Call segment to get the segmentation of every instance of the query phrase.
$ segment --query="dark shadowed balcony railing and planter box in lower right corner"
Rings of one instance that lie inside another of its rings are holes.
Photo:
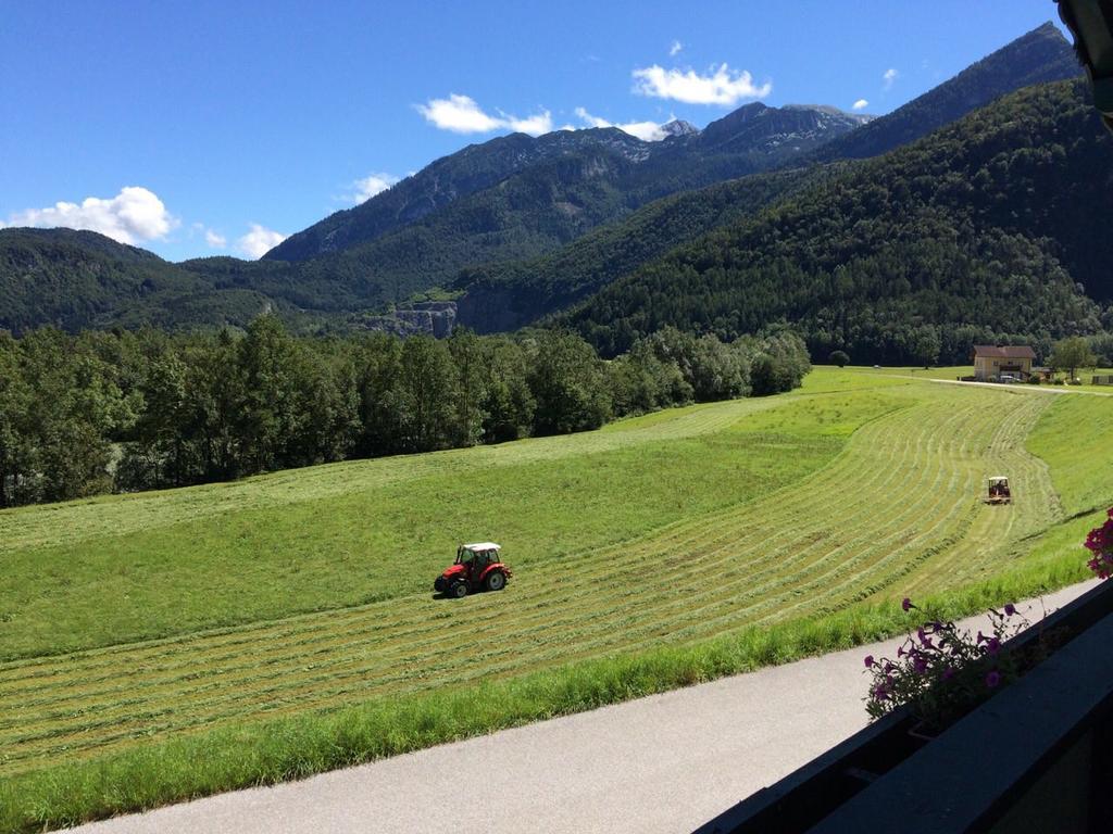
[[[1068,642],[934,741],[895,712],[697,834],[1113,831],[1113,585],[1013,644],[1052,628]]]

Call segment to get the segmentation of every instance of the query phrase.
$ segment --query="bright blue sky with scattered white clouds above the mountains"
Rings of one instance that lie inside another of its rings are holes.
[[[0,0],[0,222],[257,257],[513,128],[652,137],[755,100],[881,115],[1052,19],[1051,0]]]

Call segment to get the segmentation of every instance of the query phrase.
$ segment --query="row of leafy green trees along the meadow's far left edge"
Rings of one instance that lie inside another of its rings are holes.
[[[597,428],[788,390],[798,336],[664,329],[612,361],[562,330],[401,340],[52,327],[0,331],[0,507]]]

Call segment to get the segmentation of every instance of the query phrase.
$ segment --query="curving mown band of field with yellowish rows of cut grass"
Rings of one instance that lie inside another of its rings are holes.
[[[816,425],[840,426],[850,401],[844,397],[812,397],[809,406],[824,417]],[[0,773],[845,607],[946,558],[989,513],[1006,524],[1021,514],[1020,503],[984,507],[982,481],[1002,456],[1023,455],[1048,405],[920,386],[875,397],[868,421],[818,471],[639,540],[528,563],[503,594],[462,602],[422,594],[4,664]],[[715,437],[725,446],[733,435],[790,446],[791,430],[806,423],[802,406],[794,408],[751,413]],[[1014,478],[1020,495],[1050,488],[1045,467]],[[992,559],[1009,536],[968,558]]]

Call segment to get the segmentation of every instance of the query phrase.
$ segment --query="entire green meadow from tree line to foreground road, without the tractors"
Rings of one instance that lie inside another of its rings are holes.
[[[1113,503],[1071,469],[1111,425],[1113,398],[819,369],[590,434],[0,513],[0,828],[848,645],[909,587],[965,609],[1068,582],[1062,523]],[[997,471],[1012,506],[981,502]],[[509,588],[432,598],[473,537]]]

